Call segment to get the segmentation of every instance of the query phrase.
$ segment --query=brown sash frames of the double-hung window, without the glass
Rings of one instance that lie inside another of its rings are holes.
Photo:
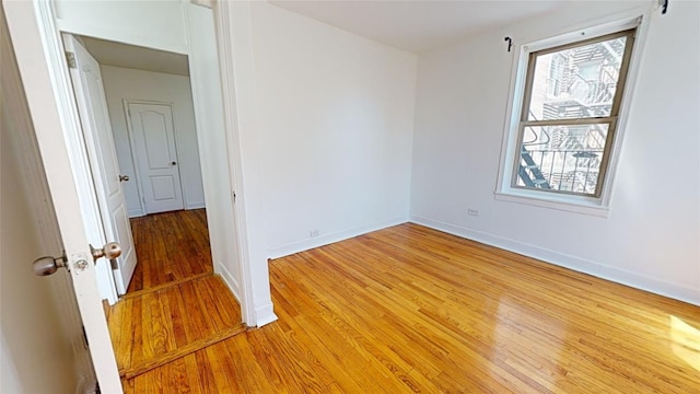
[[[515,146],[516,151],[514,152],[514,161],[513,161],[513,171],[511,176],[511,187],[517,189],[526,189],[534,192],[544,192],[544,193],[555,193],[555,194],[563,194],[563,195],[574,195],[582,197],[595,197],[599,198],[603,195],[603,186],[605,185],[605,178],[608,175],[608,164],[610,160],[610,153],[612,151],[612,141],[615,140],[615,131],[618,123],[618,114],[620,111],[622,94],[625,92],[627,76],[629,72],[630,59],[632,57],[632,48],[634,47],[634,37],[637,33],[637,27],[625,30],[611,34],[606,34],[599,37],[578,40],[570,44],[559,45],[551,48],[545,48],[541,50],[529,53],[527,60],[527,72],[525,80],[525,89],[523,90],[523,102],[521,108],[521,120],[518,124],[517,130],[517,143]],[[625,53],[622,54],[622,61],[620,65],[620,74],[618,77],[618,82],[615,91],[615,96],[612,99],[612,107],[610,109],[610,116],[607,117],[581,117],[581,118],[562,118],[562,119],[547,119],[547,120],[528,120],[529,107],[532,103],[533,96],[533,84],[535,79],[535,66],[536,59],[538,56],[548,55],[565,49],[571,49],[580,46],[591,45],[598,42],[605,42],[618,37],[626,36],[627,39],[625,42]],[[538,188],[532,186],[522,186],[518,185],[520,178],[520,165],[522,161],[522,150],[523,150],[523,138],[525,128],[527,127],[544,127],[544,126],[585,126],[585,125],[599,125],[607,124],[608,130],[605,140],[605,147],[603,150],[603,155],[600,159],[600,167],[599,173],[596,178],[596,187],[595,193],[578,193],[570,190],[557,190],[557,189],[547,189],[547,188]]]

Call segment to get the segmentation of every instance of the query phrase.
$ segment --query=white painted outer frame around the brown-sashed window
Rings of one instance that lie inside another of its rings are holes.
[[[607,217],[610,209],[612,185],[615,183],[616,170],[618,166],[622,139],[627,126],[630,104],[633,97],[641,53],[644,47],[649,10],[646,12],[631,12],[626,16],[617,16],[615,20],[594,21],[587,23],[588,27],[581,27],[563,34],[552,34],[548,38],[533,40],[521,46],[515,46],[513,57],[513,76],[511,78],[511,89],[509,93],[509,105],[504,127],[503,144],[501,147],[501,163],[499,178],[494,197],[497,200],[527,204],[542,208],[558,209],[576,213]],[[523,187],[515,187],[512,184],[515,172],[517,155],[517,142],[520,134],[520,123],[522,108],[525,102],[525,83],[527,80],[527,68],[529,54],[547,48],[553,48],[585,39],[609,35],[630,28],[637,28],[634,46],[630,65],[627,72],[627,82],[622,92],[621,106],[618,114],[618,123],[615,136],[609,148],[609,160],[606,174],[603,177],[602,192],[598,197],[583,196],[576,194],[546,193]]]

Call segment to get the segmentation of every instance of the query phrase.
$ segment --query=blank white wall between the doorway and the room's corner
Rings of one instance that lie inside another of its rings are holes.
[[[417,57],[252,7],[269,256],[405,222]]]

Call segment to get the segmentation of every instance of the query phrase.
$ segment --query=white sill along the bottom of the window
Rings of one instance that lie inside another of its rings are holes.
[[[610,207],[603,205],[597,199],[559,195],[548,196],[542,192],[527,192],[527,190],[497,190],[494,194],[497,200],[525,204],[529,206],[557,209],[567,212],[590,215],[602,218],[607,218],[610,212]]]

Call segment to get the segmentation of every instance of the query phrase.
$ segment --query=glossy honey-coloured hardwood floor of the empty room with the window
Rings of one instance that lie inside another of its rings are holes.
[[[700,308],[416,224],[270,277],[278,322],[127,393],[700,392]]]

